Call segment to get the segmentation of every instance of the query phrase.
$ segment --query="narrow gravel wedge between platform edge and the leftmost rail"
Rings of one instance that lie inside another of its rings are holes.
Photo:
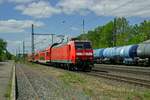
[[[40,100],[32,83],[29,81],[25,72],[19,65],[16,65],[17,71],[17,100],[35,99]]]

